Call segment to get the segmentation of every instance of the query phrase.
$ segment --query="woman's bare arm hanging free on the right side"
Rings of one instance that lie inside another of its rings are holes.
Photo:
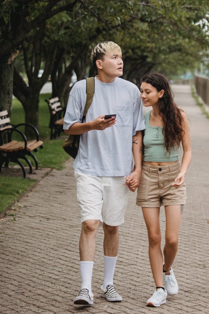
[[[188,120],[184,111],[181,111],[181,115],[183,118],[182,129],[185,132],[181,140],[184,154],[181,161],[180,173],[175,179],[175,183],[172,184],[174,187],[180,187],[180,185],[184,183],[184,177],[191,162],[191,139],[190,139],[189,123],[188,123]]]

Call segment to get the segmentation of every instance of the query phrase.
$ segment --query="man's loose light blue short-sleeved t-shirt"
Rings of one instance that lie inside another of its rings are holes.
[[[98,116],[116,114],[117,123],[103,131],[91,130],[80,138],[74,169],[94,176],[127,176],[132,171],[132,136],[144,130],[140,92],[122,78],[112,83],[95,80],[95,92],[85,122]],[[64,129],[81,122],[86,103],[86,80],[71,89],[64,118]]]

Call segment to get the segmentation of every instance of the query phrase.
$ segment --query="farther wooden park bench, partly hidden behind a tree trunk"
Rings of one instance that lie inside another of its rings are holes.
[[[53,139],[60,136],[60,133],[63,132],[63,116],[65,114],[65,109],[62,108],[58,97],[49,100],[46,99],[45,101],[47,102],[50,111],[50,139]]]

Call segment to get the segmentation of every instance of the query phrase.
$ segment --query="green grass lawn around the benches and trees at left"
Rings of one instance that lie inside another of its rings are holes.
[[[45,99],[49,99],[51,94],[41,94],[39,103],[39,136],[44,142],[44,148],[38,149],[34,156],[38,160],[40,168],[55,168],[57,170],[63,169],[64,162],[69,158],[62,148],[64,133],[62,138],[50,140],[50,113]],[[25,113],[22,104],[16,99],[13,99],[11,123],[19,124],[25,122]],[[24,128],[21,128],[24,133]],[[34,160],[29,157],[34,168]],[[24,160],[21,160],[24,165],[27,165]],[[16,165],[10,163],[9,165]],[[24,179],[22,177],[3,177],[0,176],[0,213],[9,204],[25,192],[36,180]]]

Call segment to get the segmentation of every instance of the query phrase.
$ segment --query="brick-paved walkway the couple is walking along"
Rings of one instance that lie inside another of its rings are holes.
[[[209,121],[191,97],[189,86],[173,85],[175,100],[191,121],[193,157],[187,173],[188,202],[184,208],[179,251],[173,268],[179,293],[160,308],[147,308],[153,293],[147,231],[131,193],[114,284],[121,303],[100,297],[102,229],[97,235],[93,270],[93,306],[75,306],[80,290],[78,243],[80,214],[76,203],[72,160],[63,171],[53,170],[19,201],[15,220],[0,222],[0,313],[209,313]],[[161,211],[164,245],[165,214]]]

